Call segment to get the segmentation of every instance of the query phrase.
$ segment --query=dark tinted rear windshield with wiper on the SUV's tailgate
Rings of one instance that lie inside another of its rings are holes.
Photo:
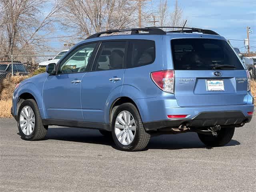
[[[176,70],[243,70],[228,42],[216,39],[173,39],[172,59]]]

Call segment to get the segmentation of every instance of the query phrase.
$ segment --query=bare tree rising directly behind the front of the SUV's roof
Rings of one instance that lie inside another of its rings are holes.
[[[95,32],[134,25],[136,6],[127,0],[64,0],[59,21],[83,38]]]

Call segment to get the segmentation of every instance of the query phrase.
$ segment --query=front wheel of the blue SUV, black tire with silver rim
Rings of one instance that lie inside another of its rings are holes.
[[[26,122],[24,123],[24,121],[27,121],[28,119],[28,118],[27,119],[24,118],[24,116],[26,116],[26,114],[23,113],[24,111],[22,112],[22,109],[24,108],[27,112],[30,111],[30,114],[31,114],[31,110],[34,113],[34,116],[33,116],[34,118],[29,118],[30,124],[34,124],[34,128],[31,128],[32,126],[30,126],[32,132],[26,132],[26,130],[30,130],[28,126],[26,129],[24,129],[24,127],[26,127],[25,125]],[[24,100],[24,102],[20,104],[20,107],[18,109],[17,123],[18,123],[20,136],[23,140],[29,140],[29,141],[42,140],[45,137],[48,130],[48,126],[44,126],[42,123],[38,106],[36,104],[36,101],[33,99]],[[23,126],[23,129],[22,129],[22,126]]]

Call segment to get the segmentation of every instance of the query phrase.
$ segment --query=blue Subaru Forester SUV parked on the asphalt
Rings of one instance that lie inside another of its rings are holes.
[[[21,138],[41,140],[57,125],[98,129],[126,151],[143,150],[158,134],[230,142],[252,119],[248,71],[216,32],[166,28],[96,33],[18,84],[12,115]],[[100,37],[119,32],[126,34]]]

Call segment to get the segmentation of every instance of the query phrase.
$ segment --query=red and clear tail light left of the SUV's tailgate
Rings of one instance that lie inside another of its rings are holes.
[[[151,78],[161,90],[174,93],[174,70],[152,72]]]

